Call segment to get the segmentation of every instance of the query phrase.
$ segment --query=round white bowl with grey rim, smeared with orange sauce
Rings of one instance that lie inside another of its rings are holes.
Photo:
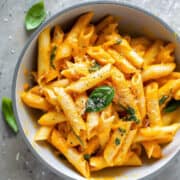
[[[27,108],[21,102],[20,92],[23,90],[24,83],[30,82],[30,79],[24,75],[24,71],[31,71],[36,65],[37,38],[42,29],[46,26],[54,26],[55,24],[60,24],[62,27],[66,27],[66,25],[70,24],[74,18],[88,11],[93,11],[95,13],[95,21],[107,14],[119,17],[121,31],[127,31],[131,34],[149,35],[154,38],[174,42],[176,44],[176,60],[180,69],[180,41],[177,35],[159,18],[131,5],[110,1],[82,3],[60,11],[41,25],[40,28],[38,28],[30,37],[16,66],[12,88],[14,111],[18,120],[20,132],[33,154],[42,162],[42,164],[66,179],[83,180],[85,178],[69,166],[68,163],[58,159],[52,153],[50,148],[34,142],[33,139],[37,130],[37,115],[35,111]],[[116,177],[117,179],[124,178],[126,180],[146,179],[147,176],[154,175],[155,172],[168,164],[168,162],[178,154],[180,149],[179,139],[180,132],[176,134],[173,142],[164,147],[164,156],[160,160],[146,162],[142,167],[119,167],[106,169],[98,173],[98,177]]]

